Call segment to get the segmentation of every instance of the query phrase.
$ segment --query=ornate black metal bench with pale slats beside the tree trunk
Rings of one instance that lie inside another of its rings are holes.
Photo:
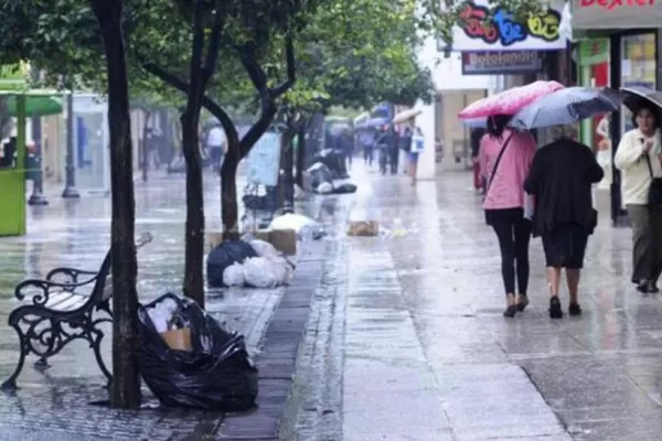
[[[151,240],[149,233],[142,234],[136,246],[139,248]],[[104,332],[99,329],[102,323],[113,322],[110,267],[108,251],[96,272],[55,268],[45,280],[29,279],[17,286],[14,295],[19,300],[31,297],[32,301],[9,314],[9,325],[19,335],[20,355],[13,374],[1,386],[3,390],[17,388],[17,378],[29,354],[39,357],[35,367],[47,368],[47,359],[74,340],[89,343],[102,373],[110,381],[113,376],[100,353]],[[89,294],[82,292],[89,287]]]

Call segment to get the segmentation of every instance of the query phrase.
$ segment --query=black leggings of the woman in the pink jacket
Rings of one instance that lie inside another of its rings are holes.
[[[515,293],[515,261],[517,262],[517,293],[526,294],[528,288],[528,240],[531,222],[522,208],[493,209],[490,225],[494,228],[501,249],[501,277],[505,293]]]

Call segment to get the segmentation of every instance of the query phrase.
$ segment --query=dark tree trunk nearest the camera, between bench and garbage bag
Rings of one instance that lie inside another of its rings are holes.
[[[138,349],[138,293],[136,291],[136,243],[134,154],[129,85],[121,31],[122,0],[93,0],[102,26],[108,71],[108,128],[110,132],[110,189],[113,220],[113,385],[114,407],[140,407]]]

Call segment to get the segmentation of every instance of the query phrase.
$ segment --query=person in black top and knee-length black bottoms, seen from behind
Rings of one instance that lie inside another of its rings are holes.
[[[535,197],[533,235],[543,239],[552,319],[563,318],[558,290],[564,268],[568,313],[581,314],[579,277],[588,236],[597,225],[591,184],[605,175],[588,146],[572,139],[568,128],[557,130],[557,139],[535,153],[524,183],[526,193]]]

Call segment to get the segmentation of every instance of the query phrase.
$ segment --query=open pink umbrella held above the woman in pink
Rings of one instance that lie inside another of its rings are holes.
[[[492,115],[515,115],[540,97],[563,89],[557,82],[534,82],[479,99],[458,114],[461,119],[487,118]]]

